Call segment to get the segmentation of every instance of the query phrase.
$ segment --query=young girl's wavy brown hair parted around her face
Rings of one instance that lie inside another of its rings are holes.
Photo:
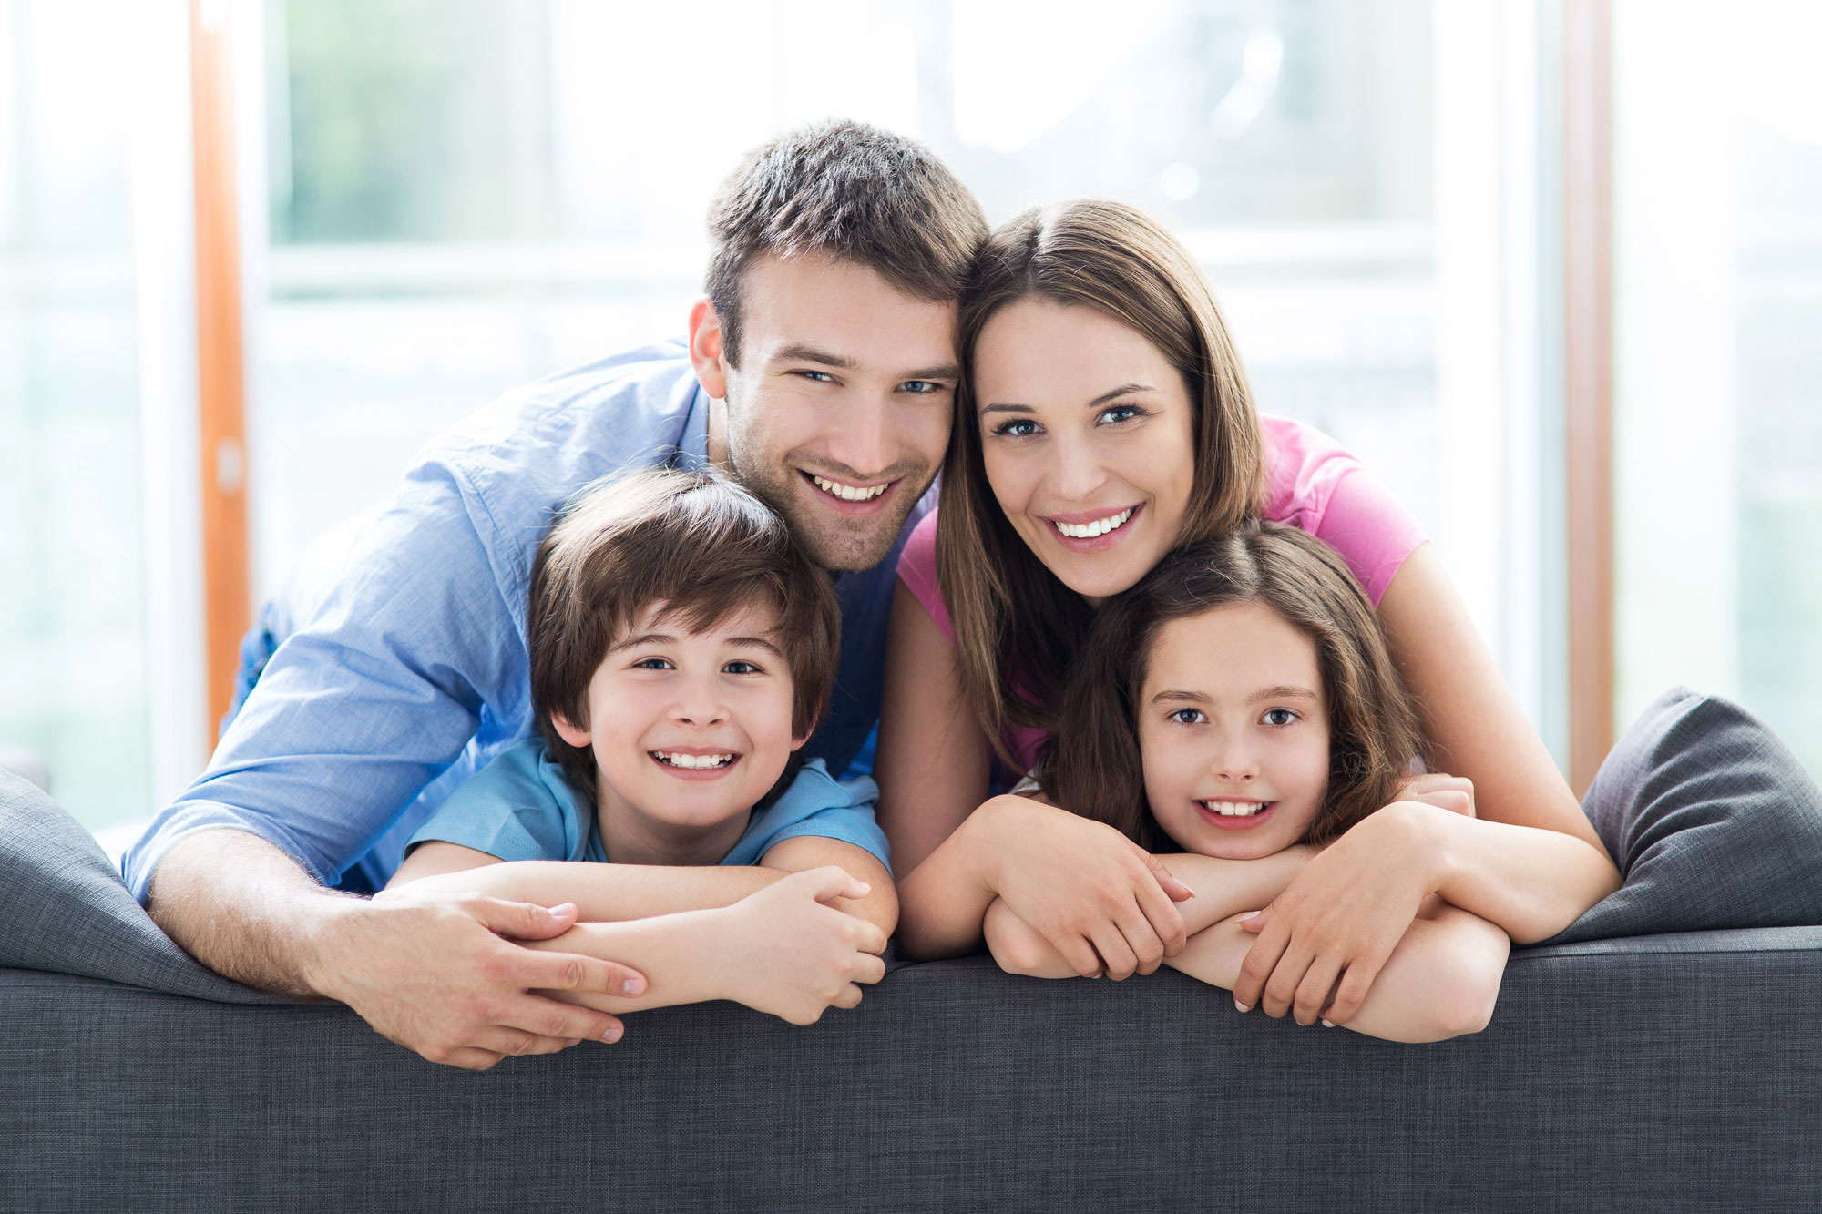
[[[1328,789],[1303,842],[1341,837],[1397,800],[1421,735],[1372,603],[1321,540],[1252,525],[1164,558],[1095,618],[1062,696],[1039,782],[1059,806],[1155,851],[1172,846],[1144,795],[1137,704],[1159,629],[1263,603],[1315,645],[1328,711]]]

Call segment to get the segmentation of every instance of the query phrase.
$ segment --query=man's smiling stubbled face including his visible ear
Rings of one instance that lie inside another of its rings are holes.
[[[703,388],[727,403],[725,458],[811,560],[871,569],[949,443],[955,304],[824,257],[763,257],[742,288],[738,368],[720,352],[712,312],[691,334]]]

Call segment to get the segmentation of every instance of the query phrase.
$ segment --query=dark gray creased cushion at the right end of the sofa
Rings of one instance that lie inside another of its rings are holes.
[[[1658,696],[1583,809],[1625,880],[1545,944],[1822,924],[1822,791],[1731,700]]]

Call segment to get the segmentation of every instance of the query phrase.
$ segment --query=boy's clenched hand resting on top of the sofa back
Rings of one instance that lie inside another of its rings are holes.
[[[749,893],[723,915],[727,997],[793,1024],[814,1024],[827,1008],[860,1003],[856,983],[885,977],[885,933],[833,906],[867,895],[867,882],[825,866],[791,873]]]

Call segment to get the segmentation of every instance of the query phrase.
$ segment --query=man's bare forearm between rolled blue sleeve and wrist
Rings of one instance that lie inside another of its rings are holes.
[[[322,999],[312,968],[315,933],[357,904],[264,838],[211,829],[171,844],[146,910],[210,970],[275,995]]]

